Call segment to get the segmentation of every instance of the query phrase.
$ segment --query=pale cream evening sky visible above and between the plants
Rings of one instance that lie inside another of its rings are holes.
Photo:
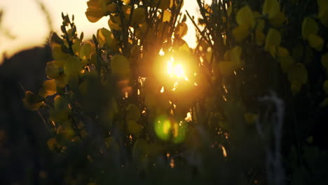
[[[62,24],[61,13],[68,13],[75,17],[75,23],[78,34],[84,32],[85,38],[91,38],[92,34],[96,34],[97,29],[105,27],[109,29],[107,21],[109,17],[104,17],[96,23],[88,22],[85,11],[88,0],[39,0],[50,13],[53,21],[55,32],[60,32]],[[1,27],[8,30],[15,39],[8,39],[3,33],[0,33],[0,64],[3,54],[8,57],[20,50],[31,48],[34,46],[42,46],[46,43],[49,36],[46,18],[37,4],[36,0],[0,0],[0,9],[4,11]],[[198,15],[198,6],[196,0],[185,0],[183,12],[188,10],[191,15]],[[189,43],[190,47],[196,46],[196,32],[191,25],[191,21],[187,19],[189,32],[184,39]]]

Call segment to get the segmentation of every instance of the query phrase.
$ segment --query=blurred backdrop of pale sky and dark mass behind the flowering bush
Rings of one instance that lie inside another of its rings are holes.
[[[108,17],[88,22],[87,0],[0,1],[0,184],[63,184],[65,158],[53,156],[46,141],[46,112],[27,111],[22,104],[25,90],[37,92],[46,79],[46,63],[52,61],[48,38],[60,32],[61,13],[74,15],[77,31],[91,39],[107,25]],[[198,15],[195,1],[185,1],[183,13]],[[196,47],[196,32],[187,20],[184,39]]]

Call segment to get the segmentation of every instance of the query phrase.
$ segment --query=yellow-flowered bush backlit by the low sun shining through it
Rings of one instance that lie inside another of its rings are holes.
[[[310,146],[316,136],[306,128],[320,118],[299,114],[327,111],[328,4],[317,0],[318,11],[293,20],[287,10],[305,2],[197,0],[199,24],[186,12],[198,30],[193,49],[183,39],[184,1],[90,0],[88,20],[109,16],[110,28],[92,41],[62,15],[49,80],[23,101],[48,110],[47,143],[67,156],[65,184],[126,182],[124,175],[300,184],[315,174],[312,155],[327,154]]]

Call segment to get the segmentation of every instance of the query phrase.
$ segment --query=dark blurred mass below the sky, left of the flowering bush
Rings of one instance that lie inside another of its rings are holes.
[[[46,175],[48,131],[22,98],[23,88],[38,92],[50,60],[46,45],[5,58],[0,66],[0,184],[39,184]]]

